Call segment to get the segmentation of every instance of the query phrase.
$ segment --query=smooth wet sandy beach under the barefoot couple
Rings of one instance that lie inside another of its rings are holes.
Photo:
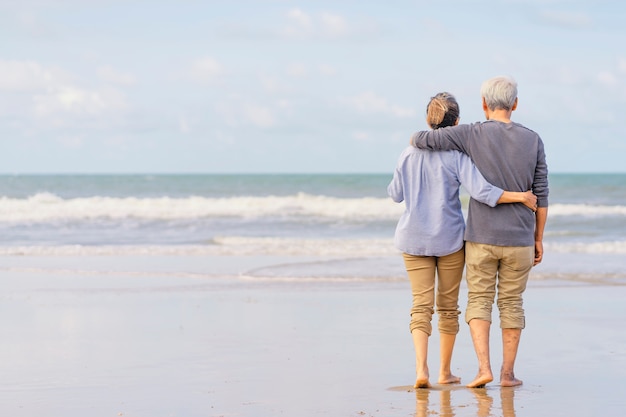
[[[624,413],[626,286],[531,281],[516,369],[524,385],[416,392],[407,282],[229,275],[277,261],[3,257],[0,411],[12,417]],[[497,374],[497,318],[495,324]],[[453,370],[465,383],[476,371],[465,324]]]

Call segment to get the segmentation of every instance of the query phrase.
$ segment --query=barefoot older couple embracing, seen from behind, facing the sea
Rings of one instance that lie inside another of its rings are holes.
[[[478,359],[478,374],[467,386],[484,387],[493,381],[489,331],[494,300],[502,329],[500,384],[522,383],[513,368],[525,326],[522,294],[531,268],[543,257],[548,169],[539,135],[511,121],[517,83],[509,77],[492,78],[480,93],[487,121],[469,125],[458,125],[459,106],[452,95],[440,93],[431,99],[426,117],[433,130],[412,136],[412,146],[400,156],[387,190],[395,202],[405,204],[395,245],[403,252],[413,293],[410,330],[416,388],[431,386],[427,352],[435,305],[438,383],[460,382],[450,362],[459,331],[458,296],[465,265],[465,321]],[[461,184],[472,197],[467,229]]]

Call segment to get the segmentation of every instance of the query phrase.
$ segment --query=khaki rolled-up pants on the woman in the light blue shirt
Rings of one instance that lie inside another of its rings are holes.
[[[437,275],[437,314],[439,332],[457,334],[459,331],[459,287],[465,266],[465,251],[447,256],[414,256],[404,254],[404,265],[411,282],[413,307],[410,330],[432,333],[435,304],[435,273]]]

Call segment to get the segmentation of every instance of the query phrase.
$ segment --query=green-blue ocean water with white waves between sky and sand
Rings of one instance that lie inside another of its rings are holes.
[[[391,174],[0,176],[0,255],[298,259],[284,279],[403,279]],[[467,195],[463,195],[467,206]],[[536,279],[626,283],[626,174],[553,174]],[[303,261],[303,260],[306,260]]]

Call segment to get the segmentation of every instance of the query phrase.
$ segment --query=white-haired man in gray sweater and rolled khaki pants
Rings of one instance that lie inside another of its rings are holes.
[[[511,121],[517,108],[517,83],[508,77],[481,87],[486,122],[417,132],[412,145],[455,149],[469,155],[490,183],[511,191],[532,190],[537,210],[523,204],[489,207],[470,200],[466,240],[468,303],[465,320],[478,358],[478,375],[468,387],[493,381],[489,354],[491,311],[497,294],[502,329],[502,386],[520,385],[514,366],[525,327],[522,295],[531,268],[543,257],[548,216],[548,167],[539,135]]]

